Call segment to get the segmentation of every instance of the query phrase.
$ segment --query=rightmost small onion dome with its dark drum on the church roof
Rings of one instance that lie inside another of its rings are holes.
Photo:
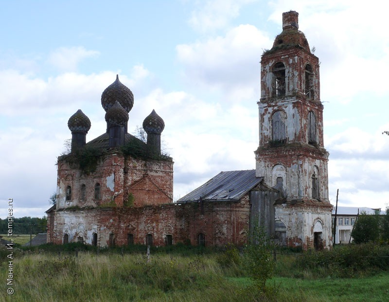
[[[161,133],[165,128],[165,123],[153,109],[144,119],[142,126],[147,133],[147,147],[150,155],[159,155],[161,153]]]

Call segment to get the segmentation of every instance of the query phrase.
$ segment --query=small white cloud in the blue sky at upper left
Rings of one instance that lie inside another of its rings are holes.
[[[99,54],[82,46],[60,47],[50,53],[47,61],[60,71],[76,71],[82,60],[97,57]]]

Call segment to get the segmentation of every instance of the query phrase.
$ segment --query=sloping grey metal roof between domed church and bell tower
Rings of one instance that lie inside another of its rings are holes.
[[[195,202],[200,197],[204,201],[239,200],[262,180],[255,176],[255,170],[222,171],[177,202]]]

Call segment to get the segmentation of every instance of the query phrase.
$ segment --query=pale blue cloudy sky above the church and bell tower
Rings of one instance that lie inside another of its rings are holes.
[[[381,2],[382,3],[382,2]],[[101,93],[134,93],[128,132],[153,109],[165,122],[174,200],[220,171],[255,169],[260,61],[282,13],[320,60],[329,197],[389,203],[389,31],[378,0],[6,1],[0,10],[0,218],[42,217],[56,161],[81,109],[87,141],[106,130]]]

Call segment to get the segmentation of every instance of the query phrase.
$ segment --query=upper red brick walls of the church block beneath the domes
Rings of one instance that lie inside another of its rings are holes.
[[[98,196],[96,184],[100,184]],[[70,200],[67,200],[68,186]],[[87,174],[66,158],[58,160],[56,209],[95,207],[111,202],[123,206],[128,201],[136,206],[172,202],[173,162],[134,159],[112,151],[99,161],[94,172]]]

